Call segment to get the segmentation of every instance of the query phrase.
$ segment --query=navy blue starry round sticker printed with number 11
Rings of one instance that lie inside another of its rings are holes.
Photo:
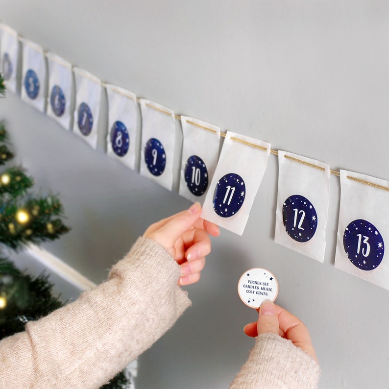
[[[214,192],[214,211],[222,218],[230,218],[242,208],[246,195],[243,178],[236,173],[221,177]]]

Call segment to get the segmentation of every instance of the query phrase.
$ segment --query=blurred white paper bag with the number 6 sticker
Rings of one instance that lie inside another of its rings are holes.
[[[47,53],[49,95],[47,115],[69,130],[71,125],[72,64],[53,53]]]

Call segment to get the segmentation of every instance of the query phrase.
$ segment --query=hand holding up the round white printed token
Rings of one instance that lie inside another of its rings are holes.
[[[278,334],[282,338],[292,340],[296,347],[306,351],[318,363],[311,336],[300,319],[270,300],[265,300],[258,311],[258,321],[244,327],[246,335],[256,337],[268,332]]]

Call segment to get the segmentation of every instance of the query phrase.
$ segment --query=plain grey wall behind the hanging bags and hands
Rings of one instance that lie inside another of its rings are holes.
[[[138,97],[388,179],[388,1],[1,0],[0,9],[25,38]],[[105,155],[105,110],[97,150],[11,93],[0,117],[73,228],[44,247],[96,283],[151,222],[190,205]],[[277,303],[310,329],[320,388],[387,387],[389,292],[334,268],[339,178],[320,264],[273,242],[277,169],[270,155],[243,236],[213,240],[187,288],[193,307],[140,357],[137,388],[228,387],[253,345],[243,326],[256,312],[236,292],[250,267],[276,275]]]

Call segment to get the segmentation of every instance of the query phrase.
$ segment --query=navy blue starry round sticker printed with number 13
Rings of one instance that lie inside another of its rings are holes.
[[[380,232],[364,219],[356,219],[346,227],[343,247],[350,262],[362,270],[377,268],[384,257],[385,246]]]

